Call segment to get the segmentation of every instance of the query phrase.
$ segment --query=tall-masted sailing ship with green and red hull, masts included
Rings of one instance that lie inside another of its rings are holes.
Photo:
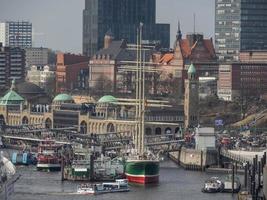
[[[136,73],[136,134],[134,139],[136,153],[131,154],[126,159],[125,175],[130,183],[151,184],[159,182],[159,159],[145,151],[144,145],[145,74],[149,71],[145,69],[145,49],[142,47],[142,29],[143,24],[140,23],[136,45],[137,60],[136,66],[134,66]]]

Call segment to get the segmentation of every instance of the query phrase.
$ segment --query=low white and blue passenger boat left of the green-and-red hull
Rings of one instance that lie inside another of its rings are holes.
[[[115,182],[98,184],[81,184],[78,186],[78,194],[104,194],[130,191],[127,179],[116,179]]]

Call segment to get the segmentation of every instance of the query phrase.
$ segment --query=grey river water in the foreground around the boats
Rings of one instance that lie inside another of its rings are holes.
[[[34,166],[18,167],[22,174],[16,183],[12,200],[228,200],[226,193],[201,192],[204,181],[215,174],[185,171],[171,161],[161,164],[160,183],[153,186],[131,185],[126,193],[84,196],[75,194],[77,182],[60,181],[59,172],[39,172]]]

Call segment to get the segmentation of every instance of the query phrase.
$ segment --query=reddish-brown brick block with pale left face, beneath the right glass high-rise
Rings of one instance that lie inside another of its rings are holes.
[[[219,67],[218,96],[224,100],[259,97],[267,92],[267,51],[241,52],[239,56],[240,62]]]

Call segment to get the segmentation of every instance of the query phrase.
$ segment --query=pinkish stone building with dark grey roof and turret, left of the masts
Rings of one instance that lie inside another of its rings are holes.
[[[135,50],[127,49],[126,40],[113,40],[111,32],[106,33],[104,48],[97,51],[89,64],[89,88],[95,93],[127,93],[134,87],[133,74],[122,72],[125,61],[135,61]],[[126,80],[127,79],[127,80]]]

